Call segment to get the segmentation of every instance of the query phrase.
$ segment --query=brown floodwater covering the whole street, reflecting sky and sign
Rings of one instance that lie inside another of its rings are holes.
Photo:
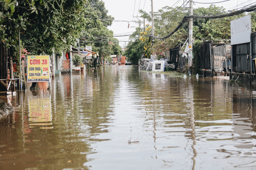
[[[249,84],[104,66],[0,99],[1,170],[256,169]]]

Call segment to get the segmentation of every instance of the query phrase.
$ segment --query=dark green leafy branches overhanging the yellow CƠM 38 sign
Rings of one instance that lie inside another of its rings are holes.
[[[86,24],[86,0],[0,0],[0,37],[7,47],[17,46],[21,33],[32,54],[62,49],[76,42]],[[8,37],[8,39],[6,38]]]

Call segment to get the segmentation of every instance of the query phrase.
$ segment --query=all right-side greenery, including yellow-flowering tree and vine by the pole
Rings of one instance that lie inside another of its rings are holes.
[[[200,7],[193,10],[194,15],[198,16],[209,16],[223,14],[225,9],[223,7],[217,7],[216,5],[210,5],[207,8]],[[140,10],[141,16],[145,17],[148,21],[151,21],[151,14]],[[219,19],[194,19],[193,20],[193,74],[199,72],[199,61],[200,61],[200,42],[212,41],[212,40],[229,40],[230,39],[230,21],[238,19],[239,17],[251,14],[251,30],[256,31],[256,12],[249,12],[239,14],[236,16],[230,16]],[[185,13],[180,12],[178,7],[163,7],[157,12],[154,12],[154,34],[156,37],[163,37],[168,33],[171,33],[180,23],[185,15],[188,15],[188,10],[185,9]],[[146,29],[149,28],[146,27]],[[146,32],[143,35],[137,35],[140,32]],[[131,58],[136,63],[140,58],[147,57],[147,51],[154,51],[158,58],[164,58],[168,54],[169,49],[174,48],[179,43],[184,43],[188,37],[188,25],[184,24],[178,31],[176,31],[170,37],[164,40],[151,40],[149,35],[150,31],[146,31],[144,28],[137,28],[134,35],[130,36],[131,42],[129,42],[125,55]],[[143,36],[143,38],[141,38]],[[147,37],[147,38],[144,38]],[[146,41],[145,41],[146,40]],[[147,47],[145,48],[145,42]],[[215,41],[216,43],[220,41]]]

